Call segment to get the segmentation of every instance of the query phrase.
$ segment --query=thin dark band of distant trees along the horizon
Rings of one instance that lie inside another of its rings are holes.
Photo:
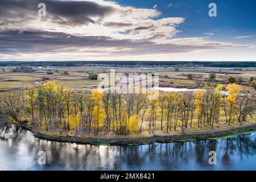
[[[0,66],[30,67],[160,67],[160,66],[203,66],[220,68],[256,67],[256,61],[0,61]]]

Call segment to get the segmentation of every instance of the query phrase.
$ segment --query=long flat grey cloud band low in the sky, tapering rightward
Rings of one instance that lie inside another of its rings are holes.
[[[114,40],[107,36],[71,36],[56,32],[5,31],[0,32],[0,53],[79,52],[82,48],[116,48],[114,55],[144,55],[156,53],[180,53],[198,49],[230,48],[213,42],[202,46],[155,44],[150,41]],[[134,47],[136,47],[134,49]],[[236,46],[239,47],[239,46]],[[243,46],[240,46],[243,47]],[[88,52],[94,52],[93,49]],[[94,52],[95,53],[95,52]],[[96,52],[97,54],[97,52]]]

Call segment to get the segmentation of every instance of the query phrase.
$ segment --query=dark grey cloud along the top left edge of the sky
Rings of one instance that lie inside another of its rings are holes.
[[[37,18],[38,4],[45,3],[47,18],[53,22],[65,23],[72,26],[95,23],[90,17],[103,19],[114,13],[112,6],[104,6],[90,1],[29,1],[29,0],[1,0],[0,21],[8,22],[10,19]]]

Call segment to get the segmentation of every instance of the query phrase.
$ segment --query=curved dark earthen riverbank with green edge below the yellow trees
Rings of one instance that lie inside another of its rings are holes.
[[[36,138],[49,140],[53,142],[64,142],[64,143],[77,143],[77,144],[93,144],[93,145],[126,145],[133,146],[139,144],[150,144],[150,143],[170,143],[170,142],[187,142],[204,139],[218,139],[218,138],[229,138],[234,135],[248,133],[256,131],[256,123],[245,124],[244,126],[232,127],[229,129],[215,129],[197,133],[185,133],[185,134],[161,134],[151,135],[148,137],[130,137],[130,136],[119,136],[113,137],[70,137],[70,136],[58,136],[48,135],[40,133],[39,131],[33,130],[29,126],[23,126],[23,129],[31,131]]]

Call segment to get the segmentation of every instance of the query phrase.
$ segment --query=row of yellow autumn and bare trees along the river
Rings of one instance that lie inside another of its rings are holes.
[[[223,89],[228,94],[222,94]],[[75,92],[48,81],[38,88],[1,94],[0,121],[59,134],[154,134],[187,127],[213,129],[219,122],[242,125],[256,110],[255,92],[245,93],[236,83],[195,92],[160,92],[156,100],[149,100],[149,94]]]

